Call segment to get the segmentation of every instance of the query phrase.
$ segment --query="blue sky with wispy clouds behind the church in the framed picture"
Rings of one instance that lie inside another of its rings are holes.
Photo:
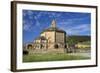
[[[50,27],[53,19],[67,35],[91,34],[90,13],[23,10],[23,42],[32,42],[43,29]]]

